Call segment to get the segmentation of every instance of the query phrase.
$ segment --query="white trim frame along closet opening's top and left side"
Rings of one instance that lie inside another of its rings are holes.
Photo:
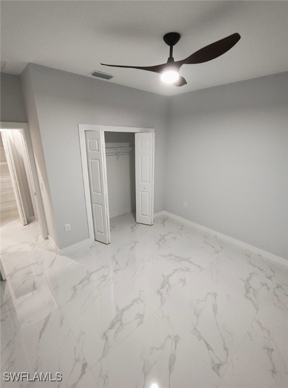
[[[91,197],[90,197],[89,175],[88,175],[88,165],[87,165],[85,131],[139,133],[139,132],[155,132],[155,129],[154,128],[139,128],[139,127],[120,127],[120,126],[111,126],[111,125],[78,124],[84,195],[85,195],[86,214],[87,214],[87,221],[88,221],[88,231],[89,231],[89,238],[94,240],[94,228],[93,228],[93,218],[92,218],[92,209],[91,209]],[[154,159],[155,158],[153,158],[153,171],[154,171]],[[105,179],[107,179],[107,174],[106,174]]]

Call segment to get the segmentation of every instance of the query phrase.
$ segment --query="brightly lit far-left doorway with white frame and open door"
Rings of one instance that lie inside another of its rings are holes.
[[[28,124],[1,122],[0,137],[1,207],[7,210],[2,220],[17,217],[27,225],[36,219],[45,239],[47,225]]]

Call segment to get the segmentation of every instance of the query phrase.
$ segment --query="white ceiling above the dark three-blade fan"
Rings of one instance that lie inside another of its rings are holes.
[[[178,94],[287,71],[287,8],[286,1],[1,1],[1,61],[11,74],[28,62],[84,76],[100,70],[114,75],[103,82]],[[170,31],[181,34],[175,61],[234,32],[242,38],[213,61],[182,66],[182,87],[100,65],[165,63],[162,37]]]

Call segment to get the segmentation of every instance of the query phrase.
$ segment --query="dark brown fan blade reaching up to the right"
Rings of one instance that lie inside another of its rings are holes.
[[[226,38],[203,47],[203,49],[198,50],[196,53],[179,62],[182,62],[182,65],[190,65],[211,61],[230,50],[240,38],[241,36],[238,33],[226,36]]]

